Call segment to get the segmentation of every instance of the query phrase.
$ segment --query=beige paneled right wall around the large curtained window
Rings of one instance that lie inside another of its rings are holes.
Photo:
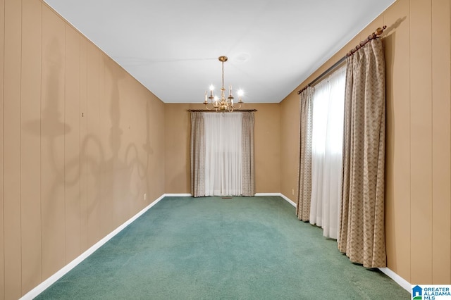
[[[385,30],[388,268],[411,283],[451,283],[450,0],[398,0],[299,85],[377,27]],[[281,103],[281,192],[297,187],[297,90]],[[292,162],[296,163],[292,163]]]

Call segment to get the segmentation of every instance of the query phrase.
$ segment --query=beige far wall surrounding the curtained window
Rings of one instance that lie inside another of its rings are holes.
[[[254,127],[257,193],[280,191],[280,105],[245,104],[257,109]],[[165,104],[166,193],[190,193],[190,113],[202,104]]]

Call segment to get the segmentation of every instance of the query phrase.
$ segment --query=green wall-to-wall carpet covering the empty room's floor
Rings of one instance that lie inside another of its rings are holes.
[[[36,299],[410,299],[279,196],[166,197]]]

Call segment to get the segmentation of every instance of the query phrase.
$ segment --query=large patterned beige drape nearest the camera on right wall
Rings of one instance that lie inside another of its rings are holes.
[[[386,265],[385,62],[381,39],[347,58],[338,249],[366,268]]]

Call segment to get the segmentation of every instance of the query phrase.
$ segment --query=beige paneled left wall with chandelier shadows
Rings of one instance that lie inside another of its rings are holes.
[[[164,193],[164,105],[42,1],[0,19],[0,299],[18,299]]]

